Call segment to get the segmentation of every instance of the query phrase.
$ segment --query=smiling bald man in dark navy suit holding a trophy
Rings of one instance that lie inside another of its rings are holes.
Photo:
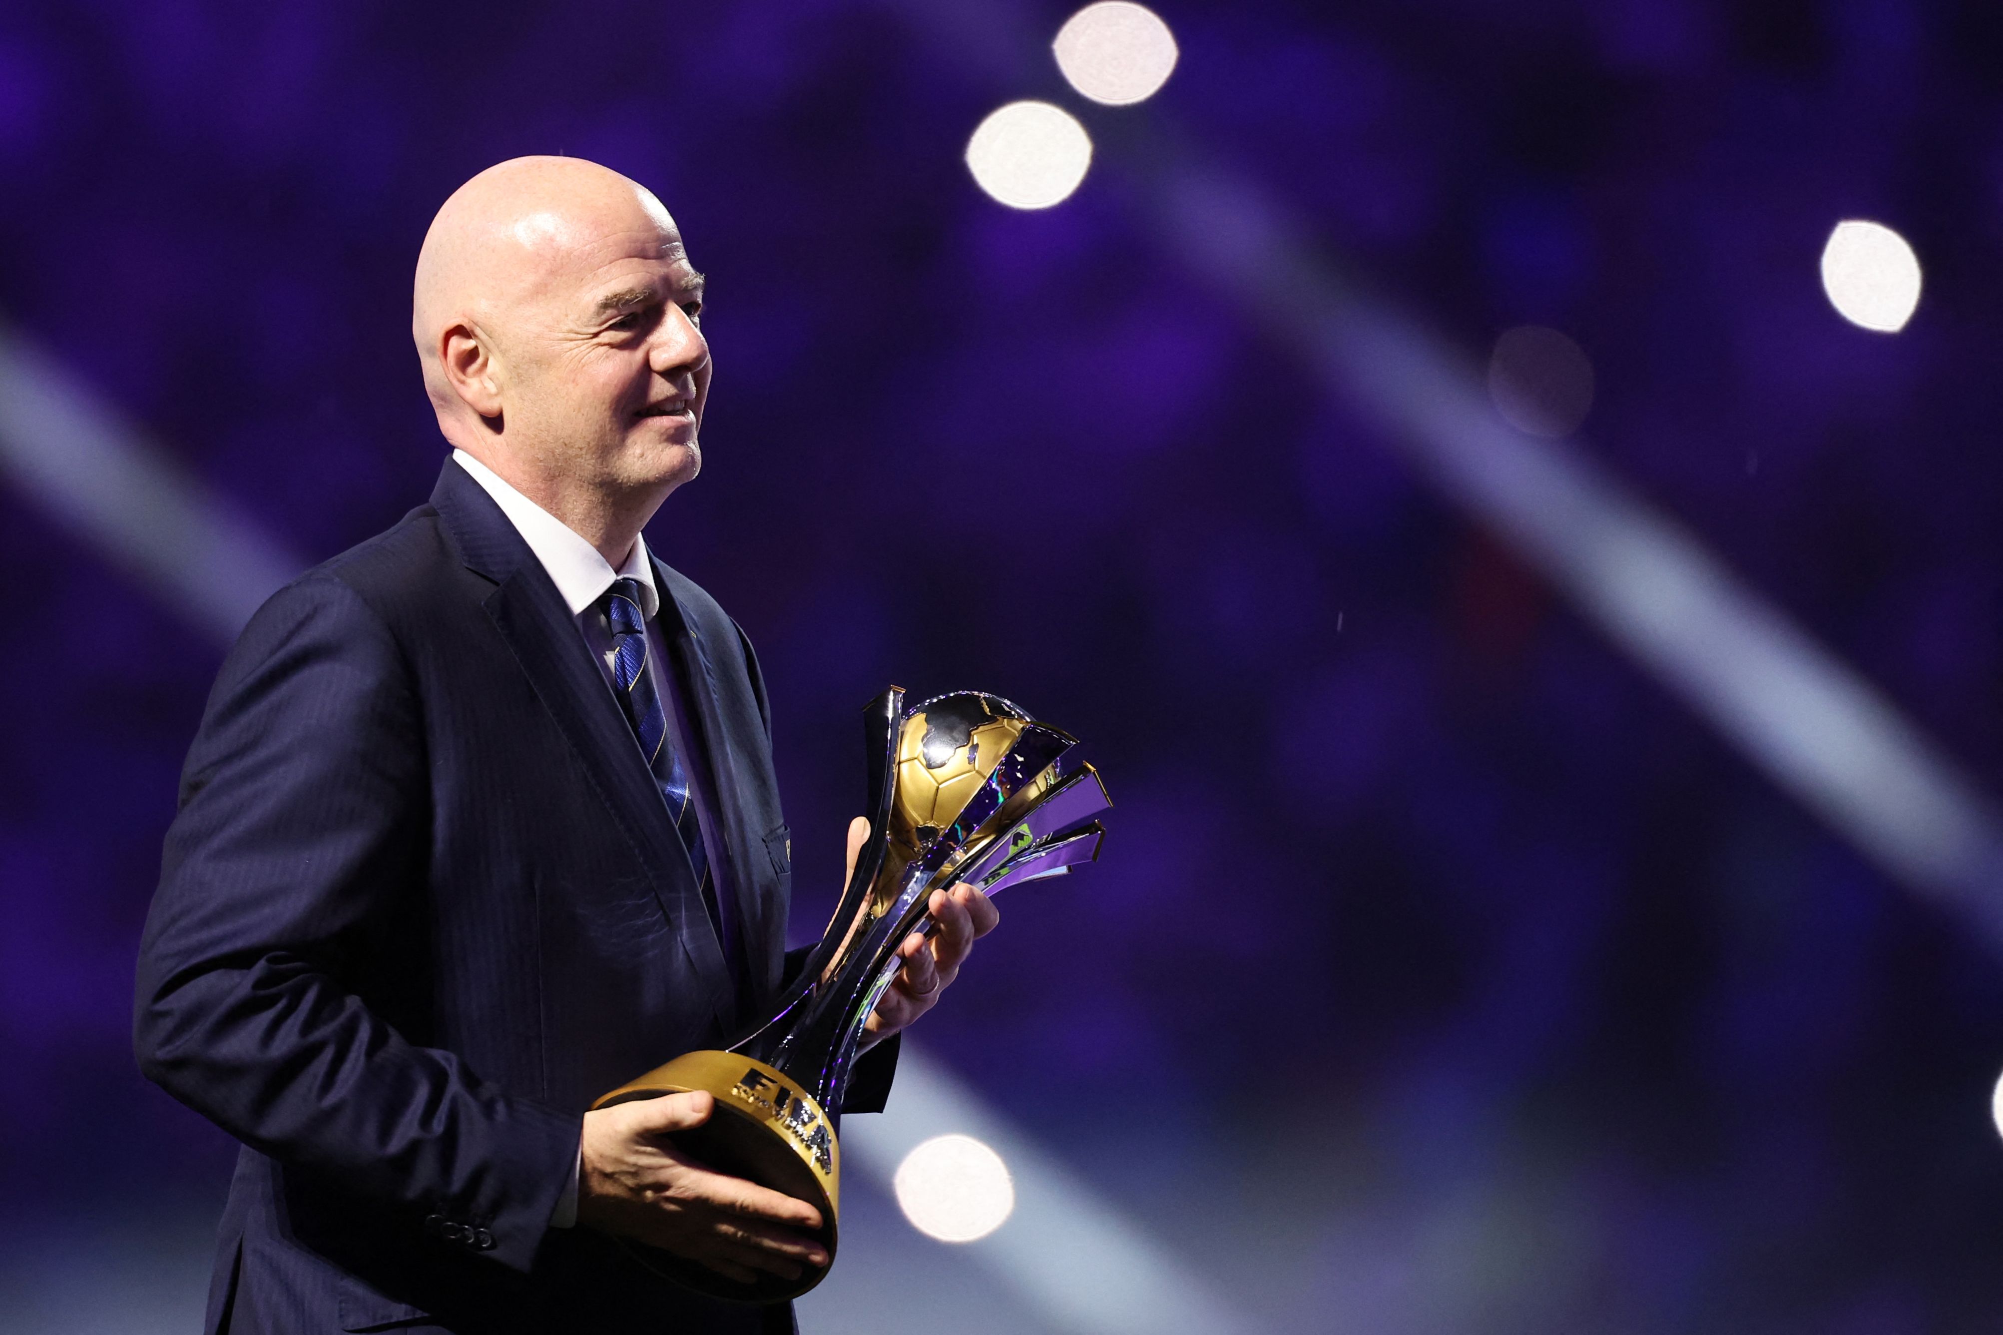
[[[707,1095],[585,1111],[785,977],[757,658],[641,538],[701,468],[701,294],[615,172],[467,182],[417,264],[455,446],[431,502],[274,594],[222,666],[136,1001],[146,1075],[244,1143],[212,1333],[787,1331],[619,1239],[739,1279],[827,1261],[813,1207],[675,1151]],[[931,909],[871,1041],[995,925],[973,891]]]

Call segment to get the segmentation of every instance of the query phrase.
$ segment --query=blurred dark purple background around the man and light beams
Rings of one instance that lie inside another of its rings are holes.
[[[1068,6],[999,12],[1048,42]],[[2003,10],[1160,12],[1182,66],[1118,116],[1470,354],[1568,332],[1582,448],[2003,775]],[[717,358],[649,542],[763,656],[795,937],[863,701],[997,691],[1088,739],[1118,811],[1090,879],[1004,901],[923,1039],[1272,1329],[1993,1329],[1991,949],[1404,472],[1116,162],[1048,212],[987,200],[979,118],[1078,100],[983,32],[859,0],[8,6],[0,316],[320,560],[443,460],[407,338],[437,204],[523,152],[635,176]],[[1821,292],[1845,216],[1927,268],[1897,338]],[[162,1265],[130,1221],[208,1227],[230,1145],[138,1079],[128,1007],[220,644],[4,486],[0,572],[6,1227],[198,1287],[198,1241]]]

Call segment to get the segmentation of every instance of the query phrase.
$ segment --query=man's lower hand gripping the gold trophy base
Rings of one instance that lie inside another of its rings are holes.
[[[757,1271],[797,1279],[805,1265],[827,1265],[827,1249],[797,1233],[821,1227],[817,1209],[707,1169],[667,1139],[701,1127],[713,1111],[715,1101],[695,1091],[585,1113],[577,1223],[739,1283],[753,1283]]]

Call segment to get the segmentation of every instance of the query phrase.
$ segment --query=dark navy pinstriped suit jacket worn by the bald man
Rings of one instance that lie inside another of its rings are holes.
[[[547,1227],[589,1103],[719,1047],[785,975],[757,658],[709,594],[655,578],[743,995],[569,608],[457,464],[230,650],[134,1021],[144,1073],[244,1143],[210,1335],[791,1329]],[[881,1107],[895,1055],[865,1061],[849,1111]]]

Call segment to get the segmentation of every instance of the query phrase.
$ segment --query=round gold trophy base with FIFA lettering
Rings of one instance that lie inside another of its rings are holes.
[[[715,1099],[715,1113],[701,1127],[675,1133],[675,1145],[719,1173],[801,1199],[821,1211],[821,1229],[809,1231],[835,1261],[841,1197],[841,1147],[813,1095],[775,1067],[737,1053],[685,1053],[637,1081],[611,1091],[593,1111],[701,1089]],[[739,1303],[781,1303],[821,1283],[827,1267],[805,1265],[799,1279],[759,1275],[753,1283],[727,1279],[657,1247],[627,1241],[627,1251],[657,1275]]]

